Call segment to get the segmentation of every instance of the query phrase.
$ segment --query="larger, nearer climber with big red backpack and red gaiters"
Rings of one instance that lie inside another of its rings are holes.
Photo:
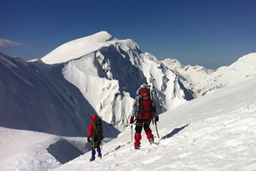
[[[136,121],[135,126],[135,149],[140,149],[141,132],[144,129],[150,144],[154,144],[154,135],[149,128],[151,121],[159,121],[157,107],[154,104],[154,97],[151,95],[150,86],[146,83],[138,88],[137,96],[132,106],[130,123]],[[135,118],[136,116],[136,118]],[[135,118],[135,119],[134,119]]]

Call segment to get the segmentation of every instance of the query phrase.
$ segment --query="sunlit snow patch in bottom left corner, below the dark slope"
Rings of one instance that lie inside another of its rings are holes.
[[[0,170],[44,170],[59,167],[47,148],[56,135],[0,127]]]

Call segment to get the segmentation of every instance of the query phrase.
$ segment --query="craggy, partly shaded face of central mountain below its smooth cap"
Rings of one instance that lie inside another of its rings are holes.
[[[129,124],[135,92],[142,83],[154,86],[159,113],[186,101],[187,90],[180,86],[176,75],[161,62],[141,53],[134,41],[111,43],[69,61],[62,70],[104,121],[124,130]]]

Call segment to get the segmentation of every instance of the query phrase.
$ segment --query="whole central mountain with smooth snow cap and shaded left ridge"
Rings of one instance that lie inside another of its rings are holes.
[[[154,86],[158,113],[191,99],[177,75],[147,55],[132,39],[119,40],[106,31],[67,42],[42,61],[26,62],[3,54],[0,83],[6,83],[2,89],[10,97],[2,96],[5,107],[0,113],[9,110],[23,123],[0,121],[0,126],[77,136],[86,134],[89,118],[96,114],[111,125],[113,134],[109,135],[114,137],[129,125],[132,102],[143,83]],[[10,64],[16,69],[8,69]],[[31,115],[37,126],[26,120]]]

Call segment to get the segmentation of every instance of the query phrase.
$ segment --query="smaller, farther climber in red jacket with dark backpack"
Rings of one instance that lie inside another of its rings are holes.
[[[87,141],[91,143],[91,159],[90,161],[95,160],[96,151],[98,152],[99,158],[102,158],[101,149],[99,147],[100,143],[103,140],[103,126],[102,120],[94,115],[91,119],[91,124],[89,126],[89,135]]]

